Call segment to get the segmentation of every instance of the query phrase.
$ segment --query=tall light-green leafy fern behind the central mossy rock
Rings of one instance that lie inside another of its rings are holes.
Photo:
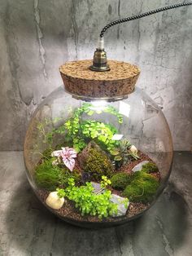
[[[111,113],[116,116],[120,124],[123,122],[122,115],[112,106],[103,108],[102,112]],[[72,113],[72,117],[62,126],[59,126],[59,128],[46,132],[45,126],[42,123],[40,123],[37,128],[44,136],[45,143],[53,143],[53,137],[59,134],[64,135],[65,141],[68,143],[72,142],[72,148],[75,148],[76,152],[80,152],[85,148],[86,144],[89,143],[91,139],[97,140],[98,143],[103,145],[108,151],[111,151],[118,146],[118,142],[111,139],[116,133],[116,128],[109,124],[104,124],[101,121],[81,121],[83,113],[92,116],[94,113],[102,112],[98,112],[97,109],[94,109],[92,104],[84,103],[81,108],[76,108]]]

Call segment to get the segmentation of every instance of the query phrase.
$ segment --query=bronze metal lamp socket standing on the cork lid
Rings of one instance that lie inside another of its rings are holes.
[[[98,72],[110,70],[110,67],[107,64],[107,53],[104,49],[97,48],[96,51],[94,51],[93,65],[91,65],[89,69]]]

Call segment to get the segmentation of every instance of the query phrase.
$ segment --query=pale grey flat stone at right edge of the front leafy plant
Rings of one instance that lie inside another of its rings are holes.
[[[129,201],[126,203],[126,198],[112,194],[110,201],[117,205],[117,214],[113,217],[120,217],[126,214],[129,207]]]

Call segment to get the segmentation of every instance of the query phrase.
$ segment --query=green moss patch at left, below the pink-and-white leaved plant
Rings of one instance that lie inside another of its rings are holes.
[[[35,181],[39,188],[45,188],[48,191],[54,191],[56,188],[66,187],[68,179],[75,179],[76,183],[80,181],[81,176],[76,170],[72,173],[67,168],[53,166],[54,159],[42,160],[35,170]]]

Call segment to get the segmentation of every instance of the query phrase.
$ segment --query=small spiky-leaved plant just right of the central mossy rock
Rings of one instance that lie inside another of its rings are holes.
[[[116,166],[120,167],[130,162],[132,159],[137,160],[139,157],[136,152],[131,152],[132,144],[127,139],[123,139],[119,143],[119,147],[111,150],[113,161],[116,161]]]

